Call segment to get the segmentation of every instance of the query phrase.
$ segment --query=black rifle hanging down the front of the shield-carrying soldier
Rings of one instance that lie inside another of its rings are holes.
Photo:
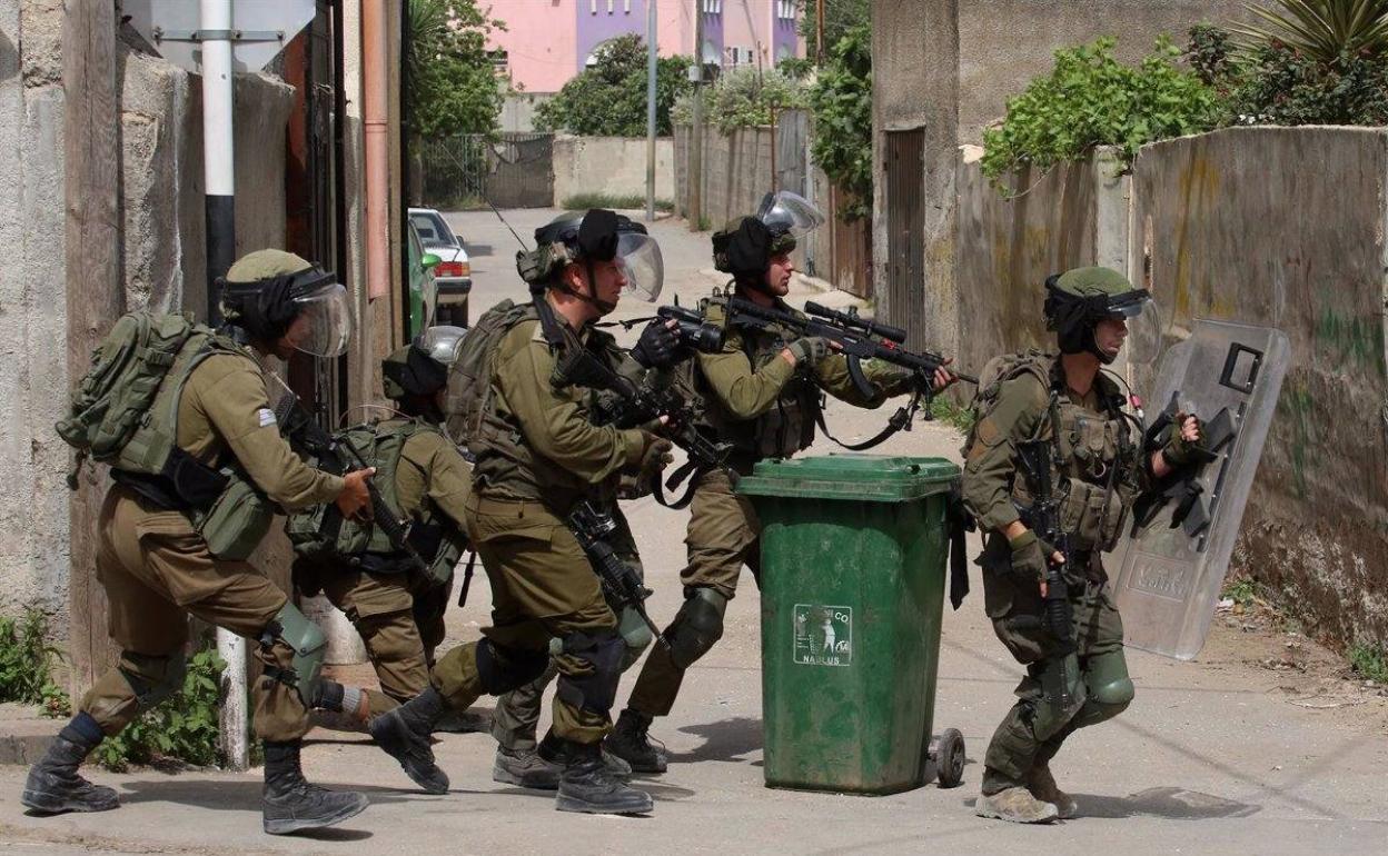
[[[1065,581],[1065,572],[1070,566],[1070,538],[1060,527],[1060,506],[1051,483],[1053,448],[1049,441],[1037,441],[1022,444],[1017,451],[1033,494],[1033,505],[1030,509],[1023,509],[1022,519],[1041,538],[1047,562],[1041,622],[1060,642],[1056,651],[1060,663],[1055,669],[1042,671],[1041,691],[1047,703],[1067,710],[1076,701],[1070,688],[1078,681],[1080,663],[1076,658],[1074,623],[1070,616],[1070,590]],[[1051,562],[1052,549],[1065,556],[1063,563]]]

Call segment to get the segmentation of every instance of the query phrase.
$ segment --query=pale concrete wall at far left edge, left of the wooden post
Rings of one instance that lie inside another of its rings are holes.
[[[0,613],[67,627],[62,3],[0,0]]]

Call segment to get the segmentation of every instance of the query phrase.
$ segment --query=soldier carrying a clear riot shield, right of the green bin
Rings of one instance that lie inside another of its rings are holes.
[[[1047,327],[1059,355],[1030,351],[984,368],[979,420],[965,445],[963,501],[985,533],[984,608],[1008,651],[1027,667],[1017,702],[984,757],[977,813],[1045,823],[1077,812],[1051,774],[1051,759],[1076,728],[1122,713],[1133,701],[1123,622],[1102,554],[1152,477],[1191,461],[1199,422],[1181,415],[1162,437],[1142,438],[1116,376],[1101,372],[1123,348],[1128,325],[1152,318],[1151,297],[1106,268],[1047,280]],[[1038,448],[1037,444],[1041,444]],[[1069,540],[1062,556],[1029,526],[1037,495],[1026,455],[1038,451]],[[1041,622],[1048,562],[1065,563],[1074,651]],[[1072,683],[1048,696],[1048,681]]]

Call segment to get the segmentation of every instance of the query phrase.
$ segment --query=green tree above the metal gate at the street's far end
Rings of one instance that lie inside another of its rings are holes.
[[[504,93],[487,55],[487,33],[505,29],[477,0],[409,0],[405,110],[416,142],[493,133]]]

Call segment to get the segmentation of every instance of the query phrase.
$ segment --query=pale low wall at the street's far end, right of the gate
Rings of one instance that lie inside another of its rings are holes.
[[[554,205],[580,193],[645,198],[645,140],[554,137]],[[675,140],[655,140],[655,198],[675,198]]]

